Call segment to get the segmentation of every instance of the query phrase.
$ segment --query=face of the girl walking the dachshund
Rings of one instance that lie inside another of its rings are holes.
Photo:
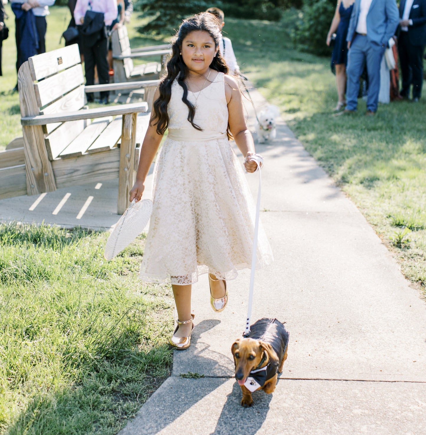
[[[194,30],[182,41],[182,59],[189,70],[204,73],[216,56],[215,40],[205,30]]]

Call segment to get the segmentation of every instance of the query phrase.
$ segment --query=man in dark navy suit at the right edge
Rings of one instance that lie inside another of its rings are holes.
[[[426,0],[401,0],[399,17],[398,52],[403,75],[400,94],[409,98],[410,85],[413,84],[413,101],[419,101],[426,45]]]

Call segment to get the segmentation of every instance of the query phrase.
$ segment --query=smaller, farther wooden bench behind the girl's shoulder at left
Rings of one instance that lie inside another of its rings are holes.
[[[131,49],[127,29],[121,26],[111,35],[114,82],[152,80],[164,72],[166,56],[171,52],[170,44]],[[134,58],[158,57],[160,61],[134,65]]]

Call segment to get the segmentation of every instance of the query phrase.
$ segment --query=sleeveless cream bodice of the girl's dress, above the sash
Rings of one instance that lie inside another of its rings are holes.
[[[212,71],[215,73],[215,71]],[[188,90],[188,100],[196,104],[194,123],[205,131],[226,133],[228,105],[225,96],[224,73],[219,72],[214,80],[199,92]],[[182,101],[183,89],[178,80],[171,85],[171,98],[167,110],[169,129],[195,130],[188,121],[188,106]],[[195,130],[196,131],[196,130]]]

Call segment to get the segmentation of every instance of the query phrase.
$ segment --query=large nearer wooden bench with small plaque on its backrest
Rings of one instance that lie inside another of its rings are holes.
[[[77,44],[30,57],[20,67],[23,143],[14,139],[0,152],[0,199],[118,178],[117,213],[127,208],[148,104],[87,109],[86,92],[126,84],[85,87],[83,82]],[[132,85],[155,89],[157,83]]]

